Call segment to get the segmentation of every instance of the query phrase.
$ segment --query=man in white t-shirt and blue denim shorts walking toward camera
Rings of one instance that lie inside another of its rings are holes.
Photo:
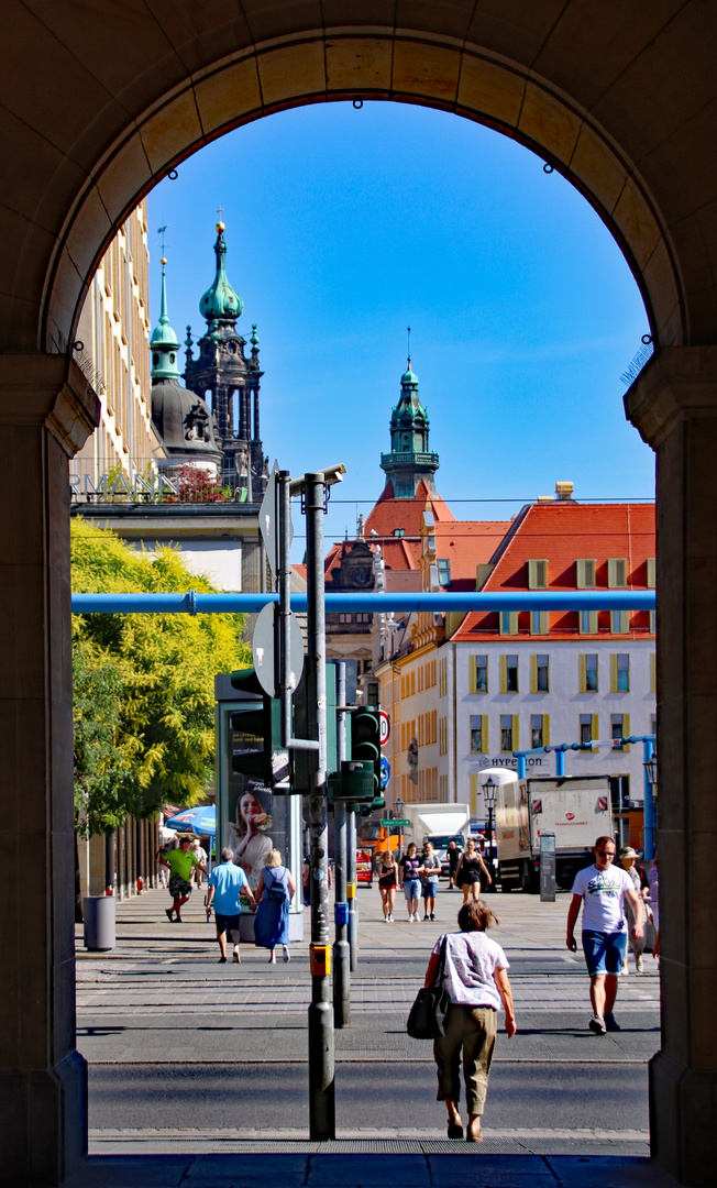
[[[590,974],[592,1018],[589,1028],[598,1036],[620,1031],[613,1007],[617,996],[617,979],[627,953],[627,923],[624,899],[635,914],[630,929],[633,940],[642,936],[642,902],[633,881],[621,866],[615,866],[615,842],[598,838],[594,847],[595,865],[578,871],[572,884],[572,899],[567,909],[565,943],[575,953],[573,936],[580,904],[583,905],[583,952]]]

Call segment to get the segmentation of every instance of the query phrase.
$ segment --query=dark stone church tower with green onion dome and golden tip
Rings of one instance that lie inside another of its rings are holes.
[[[243,302],[227,277],[224,223],[216,225],[214,245],[216,274],[199,302],[207,331],[192,350],[186,328],[186,386],[211,404],[214,432],[222,453],[222,482],[233,489],[247,487],[252,503],[261,500],[268,479],[259,430],[259,339],[252,327],[250,355],[247,340],[236,329]]]

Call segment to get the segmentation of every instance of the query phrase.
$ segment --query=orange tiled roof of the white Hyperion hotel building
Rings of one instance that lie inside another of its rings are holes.
[[[520,590],[528,588],[528,561],[547,561],[547,589],[577,589],[576,560],[595,558],[596,589],[608,589],[608,560],[624,557],[629,589],[647,589],[647,560],[655,556],[654,504],[532,504],[525,510],[499,551],[495,568],[484,590]],[[525,620],[525,621],[524,621]],[[497,613],[471,612],[452,637],[475,640],[486,632],[495,637]],[[527,630],[527,613],[519,627]],[[560,639],[589,639],[578,632],[577,611],[550,615],[551,633]],[[598,626],[607,627],[607,612],[601,612]],[[645,636],[649,613],[630,612],[630,633]]]

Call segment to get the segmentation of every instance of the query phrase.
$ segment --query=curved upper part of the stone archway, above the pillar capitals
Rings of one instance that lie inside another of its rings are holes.
[[[618,241],[659,343],[713,343],[716,43],[710,0],[6,0],[0,349],[70,339],[104,245],[183,158],[353,97],[540,153]]]

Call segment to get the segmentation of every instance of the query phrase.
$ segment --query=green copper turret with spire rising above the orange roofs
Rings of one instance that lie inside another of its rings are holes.
[[[418,397],[418,377],[411,371],[411,359],[391,416],[391,454],[381,454],[381,469],[393,487],[394,499],[413,499],[421,479],[436,494],[433,475],[438,454],[429,450],[429,417]]]

